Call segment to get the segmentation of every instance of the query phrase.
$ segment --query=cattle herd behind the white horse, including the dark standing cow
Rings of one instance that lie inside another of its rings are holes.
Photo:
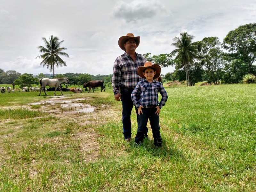
[[[84,92],[86,90],[86,87],[89,88],[89,92],[91,91],[91,89],[94,92],[94,88],[96,88],[96,87],[101,87],[101,92],[102,92],[102,89],[105,91],[104,81],[96,80],[96,81],[90,81],[88,83],[85,83],[84,84],[84,88],[85,88]],[[61,89],[61,91],[65,91],[65,92],[66,91],[71,91],[71,92],[74,92],[74,93],[82,93],[83,92],[83,89],[81,89],[79,87],[77,87],[77,88],[74,88],[74,87],[71,87],[71,88],[61,87],[60,89]],[[17,89],[14,90],[10,86],[8,86],[8,87],[6,86],[6,88],[5,87],[0,87],[0,90],[1,90],[1,93],[5,93],[6,91],[8,93],[11,93],[11,92],[14,93],[15,91],[19,91],[20,92],[20,90],[21,90],[21,92],[28,92],[28,91],[30,91],[30,92],[33,92],[33,91],[38,92],[38,91],[40,91],[40,88],[38,86],[36,86],[36,87],[29,87],[29,88],[28,87],[20,87],[20,88],[17,88]],[[45,91],[55,91],[55,87],[45,88]]]

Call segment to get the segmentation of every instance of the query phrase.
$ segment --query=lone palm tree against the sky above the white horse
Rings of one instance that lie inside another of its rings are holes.
[[[51,35],[51,38],[49,39],[49,41],[46,40],[45,37],[42,37],[45,47],[43,46],[39,46],[37,47],[38,49],[40,49],[40,52],[44,53],[43,55],[37,56],[36,58],[42,58],[42,62],[40,63],[40,65],[43,65],[43,67],[47,67],[49,68],[50,72],[53,71],[53,79],[54,79],[54,65],[56,65],[56,67],[62,67],[62,65],[64,65],[65,67],[67,67],[66,62],[63,61],[59,55],[68,57],[68,54],[65,52],[62,52],[64,50],[66,50],[67,48],[65,47],[60,47],[60,45],[63,43],[63,41],[59,41],[60,39],[58,37],[54,37]]]

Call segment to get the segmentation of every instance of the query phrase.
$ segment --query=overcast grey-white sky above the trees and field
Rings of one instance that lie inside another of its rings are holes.
[[[5,72],[50,73],[40,66],[42,37],[58,36],[70,58],[55,74],[109,75],[124,51],[118,39],[140,36],[137,53],[159,55],[174,50],[181,32],[219,37],[240,25],[256,22],[255,0],[0,0],[0,68]],[[174,67],[162,68],[161,74]],[[52,74],[52,73],[51,73]]]

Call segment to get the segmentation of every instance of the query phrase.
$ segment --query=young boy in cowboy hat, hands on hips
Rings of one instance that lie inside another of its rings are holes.
[[[157,64],[153,65],[151,62],[146,62],[144,67],[138,68],[137,72],[145,80],[140,81],[132,91],[132,102],[138,108],[139,114],[135,143],[142,143],[149,118],[154,144],[157,147],[161,147],[162,138],[159,127],[159,113],[168,99],[163,85],[155,80],[155,78],[160,76],[161,67]],[[162,95],[160,103],[158,102],[158,92]],[[137,98],[138,95],[140,95],[140,100]]]

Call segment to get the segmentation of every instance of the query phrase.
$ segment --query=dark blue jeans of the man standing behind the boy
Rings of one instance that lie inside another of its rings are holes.
[[[132,102],[132,91],[131,90],[122,90],[121,92],[121,98],[122,98],[122,123],[123,123],[123,134],[124,139],[131,138],[132,136],[132,124],[131,124],[131,113],[133,108],[133,102]],[[138,122],[138,109],[135,107],[136,114],[137,114],[137,122]],[[145,135],[145,136],[144,136]],[[145,131],[143,132],[143,137],[148,137],[148,128],[145,128]]]

